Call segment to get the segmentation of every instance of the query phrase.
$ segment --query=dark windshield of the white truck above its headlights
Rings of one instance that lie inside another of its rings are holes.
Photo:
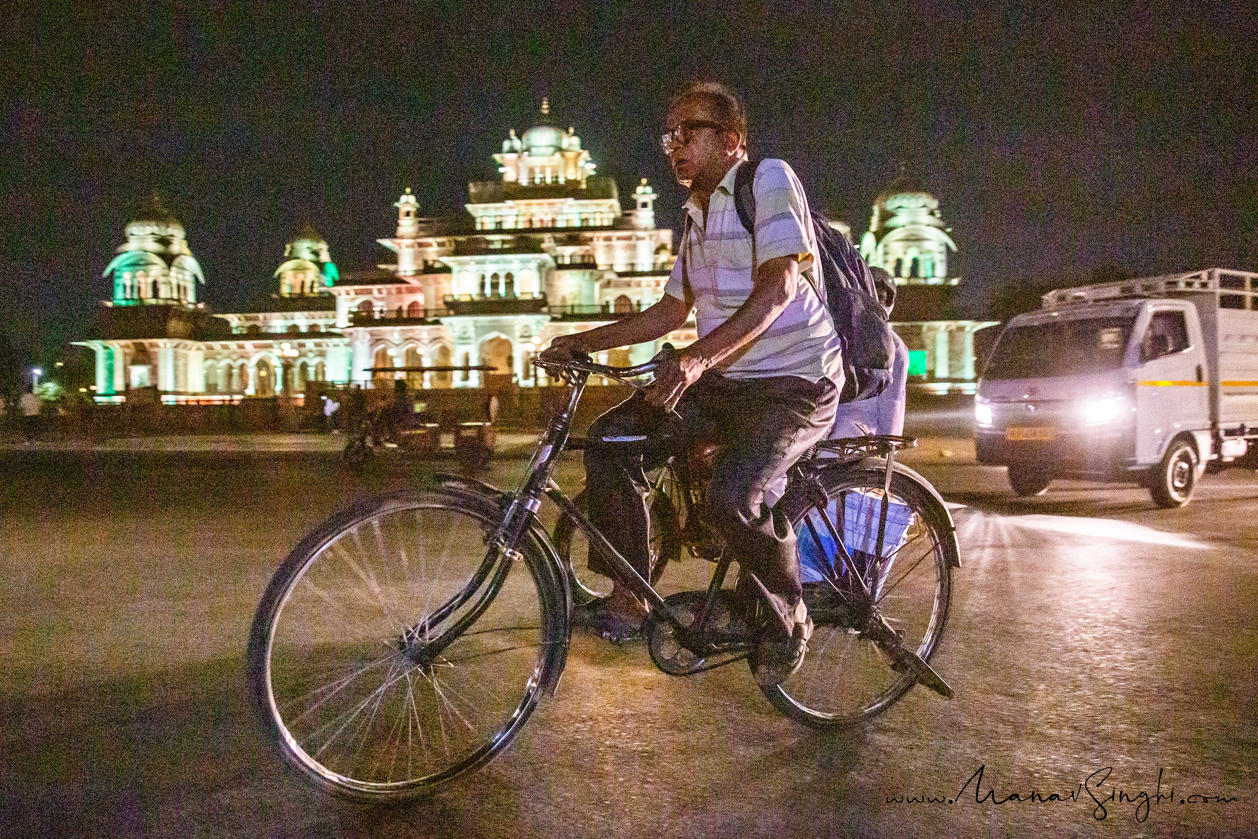
[[[1045,379],[1103,372],[1122,366],[1130,317],[1081,318],[1004,331],[984,379]]]

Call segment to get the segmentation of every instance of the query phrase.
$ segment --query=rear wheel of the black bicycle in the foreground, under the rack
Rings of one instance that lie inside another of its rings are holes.
[[[894,473],[878,558],[876,533],[886,473],[832,467],[820,478],[829,501],[824,514],[843,535],[857,570],[872,581],[873,608],[907,649],[928,660],[947,623],[957,558],[947,511],[916,481]],[[804,600],[814,631],[800,669],[781,684],[761,689],[798,722],[852,726],[886,711],[916,678],[903,667],[894,668],[863,631],[868,599],[853,594],[859,584],[837,558],[823,511],[806,499],[796,499],[795,506],[786,512],[800,547]]]

